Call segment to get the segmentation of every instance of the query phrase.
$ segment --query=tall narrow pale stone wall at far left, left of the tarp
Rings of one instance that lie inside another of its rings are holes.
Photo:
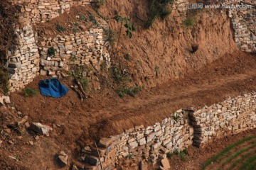
[[[39,54],[31,25],[17,28],[18,47],[14,53],[9,52],[8,70],[11,89],[23,89],[31,82],[39,70]]]

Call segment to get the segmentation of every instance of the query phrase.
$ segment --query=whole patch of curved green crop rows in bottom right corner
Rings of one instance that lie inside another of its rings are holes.
[[[208,162],[206,162],[206,164],[203,165],[203,169],[206,169],[207,166],[209,166],[210,164],[212,164],[213,162],[221,162],[223,161],[223,159],[225,159],[225,157],[227,157],[230,154],[230,150],[231,149],[235,149],[235,147],[238,147],[239,145],[242,145],[244,142],[249,142],[250,146],[245,147],[245,148],[241,148],[240,150],[238,150],[238,152],[235,152],[235,154],[232,154],[230,157],[228,157],[228,159],[226,159],[223,164],[220,165],[219,169],[223,169],[223,167],[228,164],[229,162],[231,162],[233,159],[235,159],[236,157],[240,156],[242,153],[245,153],[247,151],[250,151],[250,149],[254,149],[256,147],[256,140],[255,139],[256,136],[250,136],[250,137],[245,137],[242,140],[239,140],[238,142],[235,142],[232,145],[229,145],[228,147],[226,147],[225,149],[223,149],[223,151],[221,151],[220,153],[218,153],[217,155],[215,155],[214,157],[212,157],[210,160],[208,160]],[[251,141],[252,140],[252,141]],[[251,141],[251,142],[250,142]],[[242,162],[244,159],[247,159],[247,157],[250,157],[251,154],[245,154],[242,158],[235,160],[235,162],[233,162],[233,164],[230,166],[229,169],[233,169],[235,166],[237,166],[240,162]],[[242,164],[240,169],[245,169],[245,167],[249,166],[253,161],[251,160],[252,157],[250,157],[249,159],[247,159],[247,163],[245,162],[245,164]],[[255,159],[255,158],[254,158]]]

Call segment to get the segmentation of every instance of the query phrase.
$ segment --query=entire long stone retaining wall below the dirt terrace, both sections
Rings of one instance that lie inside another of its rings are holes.
[[[167,152],[181,151],[190,145],[203,146],[214,138],[256,128],[256,93],[229,98],[194,112],[180,110],[161,123],[143,125],[120,135],[102,138],[98,143],[105,169],[132,157],[136,162],[153,164],[164,159]],[[80,161],[99,166],[94,146],[82,150]]]

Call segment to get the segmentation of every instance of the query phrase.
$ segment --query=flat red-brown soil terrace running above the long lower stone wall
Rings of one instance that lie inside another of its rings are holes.
[[[103,89],[91,94],[86,102],[80,101],[70,90],[63,98],[50,98],[38,94],[25,98],[23,92],[11,94],[13,111],[28,115],[29,122],[41,122],[53,127],[50,137],[42,137],[35,145],[23,142],[9,146],[4,142],[1,160],[6,154],[17,154],[27,168],[56,167],[53,157],[64,150],[75,157],[80,147],[92,140],[117,135],[134,125],[152,125],[179,108],[200,108],[238,96],[256,87],[256,57],[245,52],[225,55],[220,60],[190,72],[183,79],[169,81],[153,89],[145,89],[135,98],[119,98],[112,90]],[[38,89],[37,77],[28,87]],[[70,79],[60,79],[69,86]],[[60,125],[56,127],[54,125]],[[33,137],[30,137],[33,138]],[[2,149],[1,149],[2,150]],[[24,154],[23,151],[27,151]],[[34,156],[36,155],[36,156]],[[36,159],[39,157],[40,159]],[[32,161],[33,160],[33,161]],[[19,164],[19,163],[17,163]]]

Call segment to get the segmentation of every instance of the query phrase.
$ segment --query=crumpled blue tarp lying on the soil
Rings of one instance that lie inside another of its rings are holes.
[[[39,88],[43,96],[51,96],[53,98],[60,98],[68,93],[68,88],[56,78],[40,81]]]

